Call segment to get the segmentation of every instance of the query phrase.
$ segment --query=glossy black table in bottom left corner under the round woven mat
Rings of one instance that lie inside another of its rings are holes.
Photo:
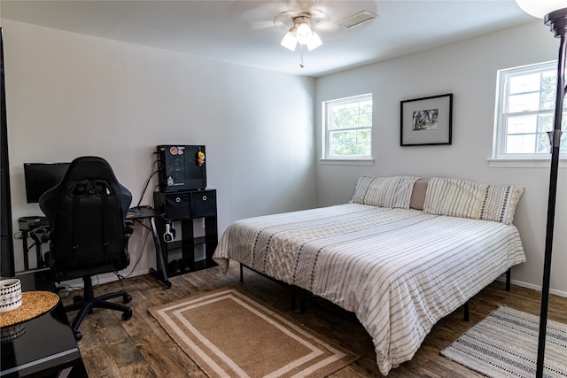
[[[47,269],[22,272],[15,278],[21,280],[23,291],[55,291]],[[61,302],[50,312],[19,325],[23,334],[2,343],[0,376],[56,377],[60,372],[68,377],[88,376]]]

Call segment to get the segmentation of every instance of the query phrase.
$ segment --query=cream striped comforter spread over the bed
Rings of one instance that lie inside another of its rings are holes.
[[[388,374],[436,321],[525,256],[514,226],[339,204],[238,220],[214,252],[225,272],[229,259],[354,312]]]

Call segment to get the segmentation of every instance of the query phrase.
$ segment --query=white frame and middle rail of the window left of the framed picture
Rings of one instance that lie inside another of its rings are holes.
[[[361,103],[363,101],[372,102],[372,121],[370,127],[351,127],[348,130],[362,130],[368,129],[370,133],[370,154],[369,155],[347,155],[347,156],[336,156],[330,155],[330,133],[337,129],[331,129],[329,126],[331,116],[330,109],[332,105],[337,104],[349,104],[353,102]],[[372,149],[372,137],[374,129],[374,98],[372,93],[365,93],[363,95],[347,96],[342,98],[336,98],[328,101],[322,101],[322,161],[326,162],[342,162],[345,164],[351,163],[356,164],[357,162],[371,162],[373,161],[373,149]]]

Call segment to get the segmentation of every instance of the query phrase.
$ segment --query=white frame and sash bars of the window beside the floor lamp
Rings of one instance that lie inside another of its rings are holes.
[[[531,152],[531,153],[509,153],[505,152],[507,137],[509,136],[508,127],[506,120],[509,114],[514,114],[518,116],[532,116],[532,115],[551,115],[555,112],[555,105],[550,109],[539,109],[537,111],[524,111],[524,112],[508,112],[509,105],[509,85],[510,80],[515,76],[527,75],[530,73],[544,73],[547,71],[556,72],[557,61],[552,60],[548,62],[542,62],[538,64],[533,64],[529,66],[519,66],[498,70],[497,72],[497,85],[496,85],[496,105],[494,112],[494,135],[493,135],[493,161],[538,161],[538,160],[548,160],[550,154],[541,152]],[[538,93],[541,94],[541,88]],[[555,96],[555,93],[554,93]],[[563,109],[563,114],[566,112]],[[564,117],[564,116],[563,116]],[[537,137],[537,132],[536,132]],[[562,153],[561,158],[567,158],[567,154]]]

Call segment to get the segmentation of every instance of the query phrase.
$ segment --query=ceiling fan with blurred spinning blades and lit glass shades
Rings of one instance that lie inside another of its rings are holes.
[[[295,50],[299,44],[303,67],[303,50],[315,50],[323,38],[366,24],[377,18],[376,1],[351,0],[271,0],[236,1],[231,13],[244,19],[253,30],[282,29],[281,45]],[[323,36],[323,38],[322,38]]]

